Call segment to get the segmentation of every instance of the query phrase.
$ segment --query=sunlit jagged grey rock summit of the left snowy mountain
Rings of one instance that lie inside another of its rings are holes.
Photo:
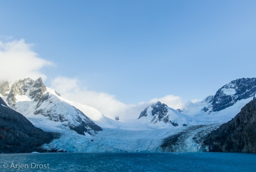
[[[15,108],[16,95],[28,94],[34,101],[38,101],[45,91],[46,87],[42,82],[42,78],[38,78],[36,81],[31,78],[22,79],[11,86],[7,102],[11,108]]]

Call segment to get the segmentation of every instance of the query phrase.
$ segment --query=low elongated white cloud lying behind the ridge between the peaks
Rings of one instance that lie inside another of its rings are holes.
[[[157,101],[166,103],[166,105],[175,109],[182,108],[184,105],[180,97],[173,95],[155,98],[148,102],[140,102],[136,105],[126,105],[115,99],[113,95],[83,89],[78,79],[62,76],[52,80],[51,88],[58,91],[66,99],[92,106],[112,119],[116,116],[119,116],[120,120],[136,119],[144,108]]]

